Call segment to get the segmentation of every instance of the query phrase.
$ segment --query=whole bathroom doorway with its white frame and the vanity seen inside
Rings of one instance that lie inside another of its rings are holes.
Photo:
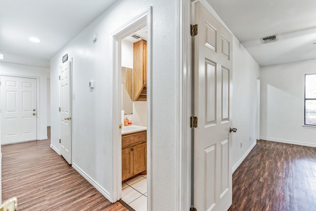
[[[116,168],[113,202],[124,201],[126,190],[136,191],[129,194],[134,198],[136,196],[135,199],[125,198],[125,203],[136,211],[150,208],[151,16],[150,7],[113,33],[113,154],[117,155],[113,159]],[[126,55],[123,55],[126,48],[130,52],[127,57],[132,62],[126,62]],[[140,62],[134,61],[136,57],[141,58]],[[125,87],[126,91],[123,91]],[[132,111],[129,113],[125,113],[127,109],[123,106],[123,97],[132,101]],[[141,188],[137,190],[133,185],[140,185]],[[135,207],[135,204],[141,208]]]

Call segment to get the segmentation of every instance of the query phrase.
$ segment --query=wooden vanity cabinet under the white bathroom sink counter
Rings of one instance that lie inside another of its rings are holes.
[[[122,135],[122,181],[147,169],[147,131]]]

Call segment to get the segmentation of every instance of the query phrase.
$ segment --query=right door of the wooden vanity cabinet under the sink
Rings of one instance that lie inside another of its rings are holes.
[[[134,174],[147,168],[147,144],[138,144],[134,148]]]

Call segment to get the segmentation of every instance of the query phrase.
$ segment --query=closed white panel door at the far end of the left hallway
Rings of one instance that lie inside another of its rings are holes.
[[[36,79],[1,76],[1,144],[37,139]]]

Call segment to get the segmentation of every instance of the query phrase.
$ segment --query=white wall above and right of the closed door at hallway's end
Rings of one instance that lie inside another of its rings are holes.
[[[20,76],[20,77],[38,77],[40,107],[37,111],[38,118],[38,139],[47,139],[47,69],[1,62],[0,75]]]

